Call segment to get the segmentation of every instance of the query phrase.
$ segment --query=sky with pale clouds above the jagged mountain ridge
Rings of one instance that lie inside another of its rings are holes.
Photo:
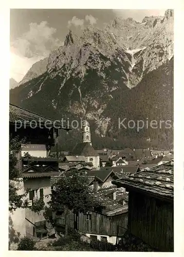
[[[132,17],[141,22],[145,16],[163,16],[164,12],[154,9],[11,9],[10,78],[20,82],[35,62],[63,45],[69,29],[80,35],[89,24],[103,28],[115,17]]]

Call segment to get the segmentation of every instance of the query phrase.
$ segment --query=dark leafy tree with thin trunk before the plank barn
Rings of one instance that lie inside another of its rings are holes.
[[[101,212],[104,209],[89,189],[87,176],[81,176],[77,171],[66,172],[54,184],[50,195],[51,210],[64,212],[65,236],[68,234],[68,215],[71,210],[86,213],[88,211]]]

